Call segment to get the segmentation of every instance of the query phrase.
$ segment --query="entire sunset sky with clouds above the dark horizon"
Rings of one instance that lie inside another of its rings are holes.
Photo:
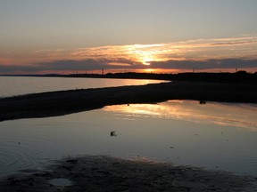
[[[256,10],[256,0],[0,0],[0,74],[255,72]]]

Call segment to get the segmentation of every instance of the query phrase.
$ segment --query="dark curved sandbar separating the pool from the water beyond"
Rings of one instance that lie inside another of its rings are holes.
[[[62,116],[129,103],[199,100],[257,103],[257,85],[173,81],[161,84],[42,92],[0,99],[0,121]]]

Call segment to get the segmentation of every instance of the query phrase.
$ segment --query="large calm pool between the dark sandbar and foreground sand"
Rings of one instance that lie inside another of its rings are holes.
[[[256,105],[173,100],[6,121],[0,175],[63,156],[112,155],[257,176],[256,112]]]

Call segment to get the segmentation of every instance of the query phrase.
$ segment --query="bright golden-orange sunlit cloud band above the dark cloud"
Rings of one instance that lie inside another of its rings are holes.
[[[145,60],[238,59],[253,57],[256,49],[257,36],[254,35],[220,39],[195,39],[163,44],[130,44],[83,48],[70,52],[70,56],[76,60],[123,58],[144,63]]]

